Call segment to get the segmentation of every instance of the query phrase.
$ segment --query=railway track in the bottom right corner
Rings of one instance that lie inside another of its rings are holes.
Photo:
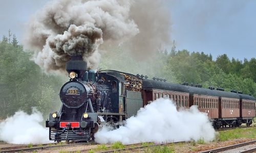
[[[246,146],[246,147],[244,147]],[[238,151],[241,150],[241,151]],[[249,141],[249,142],[244,142],[244,143],[239,143],[239,144],[234,144],[226,147],[221,147],[217,149],[211,149],[211,150],[206,150],[206,151],[201,151],[199,153],[214,153],[214,152],[254,152],[256,151],[256,140]]]

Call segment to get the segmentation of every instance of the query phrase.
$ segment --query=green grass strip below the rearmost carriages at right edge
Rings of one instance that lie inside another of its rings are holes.
[[[238,138],[252,138],[256,139],[256,128],[236,128],[233,130],[220,131],[216,136],[218,141],[227,141]]]

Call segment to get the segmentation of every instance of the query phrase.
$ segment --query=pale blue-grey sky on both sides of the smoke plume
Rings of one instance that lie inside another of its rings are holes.
[[[20,42],[29,17],[49,0],[0,0],[0,39],[10,29]],[[172,0],[170,37],[177,49],[222,54],[229,59],[256,58],[256,1]]]

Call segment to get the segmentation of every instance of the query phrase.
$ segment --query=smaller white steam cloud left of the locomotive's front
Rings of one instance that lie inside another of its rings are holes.
[[[36,109],[31,115],[18,111],[0,123],[0,140],[13,144],[50,143],[49,130],[40,124],[42,120]]]

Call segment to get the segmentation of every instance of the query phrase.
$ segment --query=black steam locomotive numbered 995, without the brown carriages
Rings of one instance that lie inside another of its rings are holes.
[[[66,70],[70,81],[60,89],[62,106],[59,112],[50,113],[46,121],[50,140],[92,140],[103,123],[116,127],[143,107],[141,95],[131,93],[131,97],[139,97],[141,105],[131,108],[129,116],[124,111],[125,77],[140,82],[140,88],[134,91],[141,89],[142,80],[135,75],[88,70],[81,56],[71,57]]]

